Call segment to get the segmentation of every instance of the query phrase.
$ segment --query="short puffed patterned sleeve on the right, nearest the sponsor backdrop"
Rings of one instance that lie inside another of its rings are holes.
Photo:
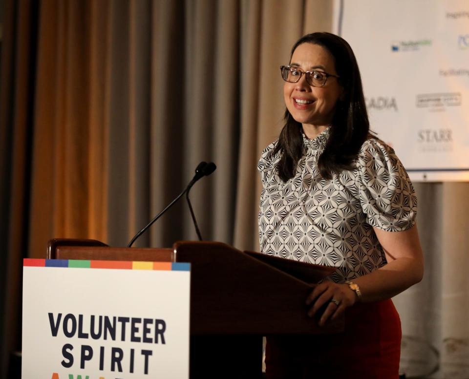
[[[367,140],[357,164],[360,202],[367,223],[388,232],[414,226],[417,197],[394,150],[377,139]]]

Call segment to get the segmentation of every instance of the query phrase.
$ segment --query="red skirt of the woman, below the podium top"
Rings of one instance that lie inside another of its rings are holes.
[[[401,320],[391,300],[345,311],[337,335],[267,337],[268,379],[399,378]]]

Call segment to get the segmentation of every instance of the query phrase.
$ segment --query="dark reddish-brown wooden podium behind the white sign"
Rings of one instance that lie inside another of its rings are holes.
[[[262,336],[340,333],[306,314],[310,283],[334,268],[241,252],[219,242],[171,249],[113,248],[96,240],[53,239],[47,259],[191,263],[191,378],[261,378]]]

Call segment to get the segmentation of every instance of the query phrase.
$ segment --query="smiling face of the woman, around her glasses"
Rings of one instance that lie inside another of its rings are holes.
[[[291,66],[303,71],[322,71],[337,75],[334,58],[328,50],[312,43],[300,44],[293,53]],[[343,92],[337,78],[329,76],[323,87],[313,87],[301,75],[298,83],[285,82],[283,97],[293,118],[304,125],[329,126],[337,100]]]

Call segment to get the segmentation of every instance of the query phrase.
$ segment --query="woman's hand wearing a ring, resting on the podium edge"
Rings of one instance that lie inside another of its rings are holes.
[[[329,303],[319,321],[319,326],[323,326],[329,318],[333,320],[340,316],[345,308],[352,306],[356,301],[357,295],[347,284],[325,281],[316,284],[306,298],[306,305],[312,305],[308,316],[314,316],[325,303]]]

